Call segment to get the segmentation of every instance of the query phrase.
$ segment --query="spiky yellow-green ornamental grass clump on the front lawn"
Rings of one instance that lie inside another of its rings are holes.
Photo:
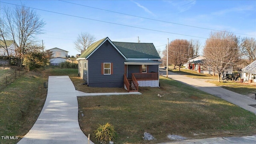
[[[110,142],[114,141],[117,132],[114,130],[114,126],[110,123],[100,125],[97,130],[94,131],[94,137],[100,142]]]

